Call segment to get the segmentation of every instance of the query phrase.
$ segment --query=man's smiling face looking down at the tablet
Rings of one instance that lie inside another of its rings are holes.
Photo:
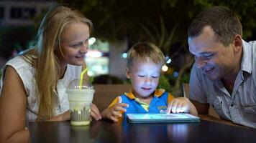
[[[199,36],[188,37],[189,51],[197,67],[211,80],[232,74],[235,69],[234,44],[224,46],[210,26],[205,26]]]

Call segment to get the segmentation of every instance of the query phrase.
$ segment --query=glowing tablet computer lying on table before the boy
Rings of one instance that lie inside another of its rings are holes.
[[[151,123],[151,122],[199,122],[200,118],[187,113],[170,114],[127,114],[127,119],[131,123]]]

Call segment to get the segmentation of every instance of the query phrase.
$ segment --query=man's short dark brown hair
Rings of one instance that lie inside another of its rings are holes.
[[[237,14],[224,6],[213,6],[201,11],[188,27],[188,37],[199,36],[205,26],[210,26],[224,46],[232,43],[234,35],[242,36],[242,24]]]

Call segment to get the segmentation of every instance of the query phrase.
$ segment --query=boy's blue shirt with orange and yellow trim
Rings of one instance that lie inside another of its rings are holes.
[[[154,97],[149,104],[148,111],[135,100],[136,97],[134,97],[134,94],[132,94],[132,92],[124,93],[121,96],[116,97],[116,99],[114,99],[109,107],[113,106],[116,103],[120,103],[119,98],[122,98],[122,103],[129,104],[129,107],[126,108],[127,112],[124,112],[123,114],[123,117],[127,117],[128,113],[160,113],[160,110],[167,109],[168,103],[174,97],[169,92],[165,92],[164,89],[156,89]]]

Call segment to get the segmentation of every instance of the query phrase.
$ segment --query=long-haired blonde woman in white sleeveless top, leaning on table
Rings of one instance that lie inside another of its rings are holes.
[[[48,11],[37,45],[9,60],[3,69],[0,97],[0,141],[29,142],[29,121],[70,119],[68,83],[86,67],[84,56],[92,23],[65,6]],[[86,77],[85,77],[86,78]],[[91,116],[99,120],[92,104]]]

